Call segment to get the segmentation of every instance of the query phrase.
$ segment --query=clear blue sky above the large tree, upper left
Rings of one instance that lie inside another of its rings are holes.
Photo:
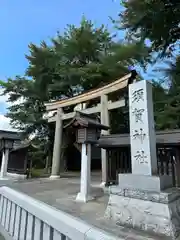
[[[38,44],[69,23],[79,24],[83,14],[112,30],[108,17],[117,17],[119,9],[113,0],[1,0],[0,79],[23,74],[30,42]]]

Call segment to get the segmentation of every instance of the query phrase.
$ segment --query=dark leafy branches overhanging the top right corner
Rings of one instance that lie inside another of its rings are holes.
[[[121,4],[119,23],[129,36],[150,39],[153,50],[163,54],[180,44],[179,0],[122,0]]]

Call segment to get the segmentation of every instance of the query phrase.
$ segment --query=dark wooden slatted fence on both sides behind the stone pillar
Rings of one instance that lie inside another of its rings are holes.
[[[173,186],[177,186],[177,147],[157,146],[158,174],[172,176]],[[108,185],[118,184],[119,173],[131,173],[130,147],[114,147],[107,149]]]

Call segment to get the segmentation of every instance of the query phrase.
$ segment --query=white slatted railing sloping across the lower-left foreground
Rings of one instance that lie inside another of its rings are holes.
[[[117,240],[8,187],[0,188],[0,227],[15,240]]]

